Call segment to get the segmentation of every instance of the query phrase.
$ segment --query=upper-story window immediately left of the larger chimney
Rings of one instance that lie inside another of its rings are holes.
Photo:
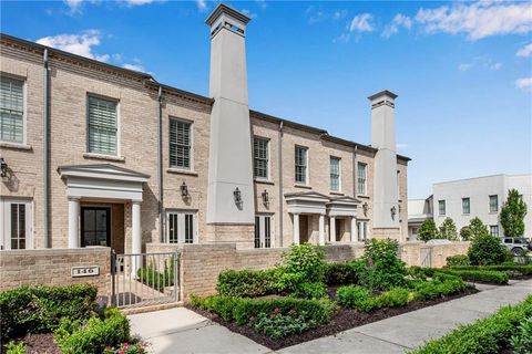
[[[170,119],[170,167],[192,169],[192,124]]]

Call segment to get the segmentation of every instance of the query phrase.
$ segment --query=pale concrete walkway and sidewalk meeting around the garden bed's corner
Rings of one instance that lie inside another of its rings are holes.
[[[488,316],[532,293],[532,280],[509,287],[479,285],[482,292],[301,343],[276,353],[405,353],[458,324]],[[129,316],[132,333],[152,343],[153,353],[273,353],[193,311],[178,308]]]

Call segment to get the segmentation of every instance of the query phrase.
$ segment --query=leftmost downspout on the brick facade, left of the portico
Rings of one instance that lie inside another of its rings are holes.
[[[48,49],[44,49],[43,53],[43,110],[42,110],[42,148],[43,148],[43,162],[42,162],[42,189],[43,189],[43,236],[44,236],[44,248],[50,248],[50,228],[49,228],[49,191],[50,191],[50,150],[49,150],[49,65],[48,65]]]

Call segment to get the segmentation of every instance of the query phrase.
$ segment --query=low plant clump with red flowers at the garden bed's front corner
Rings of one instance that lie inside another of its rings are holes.
[[[287,314],[283,314],[279,309],[274,309],[272,313],[262,312],[253,316],[248,325],[275,341],[303,333],[316,326],[316,321],[309,320],[306,313],[298,314],[291,310]]]

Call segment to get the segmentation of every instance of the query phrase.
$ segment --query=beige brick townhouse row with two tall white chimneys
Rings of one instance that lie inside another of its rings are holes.
[[[224,4],[206,20],[208,97],[2,34],[2,249],[405,241],[397,96],[369,97],[370,146],[253,111],[248,22]]]

